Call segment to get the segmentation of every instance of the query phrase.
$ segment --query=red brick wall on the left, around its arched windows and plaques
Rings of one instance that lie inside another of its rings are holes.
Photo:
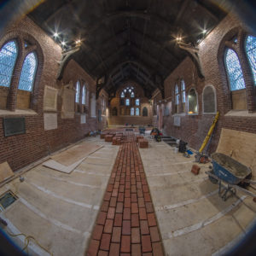
[[[87,101],[90,108],[89,94],[96,92],[96,82],[84,72],[82,67],[75,61],[70,61],[63,74],[62,81],[56,81],[58,73],[58,61],[61,60],[61,47],[49,38],[32,20],[25,17],[19,23],[10,26],[4,35],[1,35],[0,47],[9,39],[25,35],[38,45],[40,73],[36,80],[36,89],[32,106],[36,114],[25,115],[26,134],[4,137],[3,113],[0,110],[0,163],[8,161],[15,171],[26,166],[32,161],[39,160],[58,148],[67,146],[83,138],[89,131],[96,130],[96,118],[90,118],[90,109],[86,117],[86,124],[80,124],[80,114],[76,113],[74,119],[61,119],[61,96],[58,96],[58,128],[51,131],[44,131],[44,86],[52,86],[60,89],[61,84],[67,84],[70,80],[73,84],[77,79],[88,84]],[[89,94],[88,94],[89,91]],[[5,114],[5,117],[15,117]],[[24,115],[23,115],[24,116]]]

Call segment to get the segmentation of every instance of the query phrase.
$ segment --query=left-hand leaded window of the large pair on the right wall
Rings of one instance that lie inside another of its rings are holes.
[[[241,65],[233,49],[227,49],[225,63],[230,79],[230,90],[244,89],[245,83],[241,72]]]

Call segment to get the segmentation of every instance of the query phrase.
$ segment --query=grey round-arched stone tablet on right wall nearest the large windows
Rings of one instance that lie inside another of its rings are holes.
[[[216,94],[212,85],[207,85],[203,90],[203,113],[216,113]]]

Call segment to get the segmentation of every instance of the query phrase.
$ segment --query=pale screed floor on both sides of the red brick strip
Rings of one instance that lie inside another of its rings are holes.
[[[54,255],[84,255],[119,151],[99,137],[88,141],[104,147],[71,174],[39,165],[26,172],[23,183],[15,179],[0,189],[19,197],[0,212],[10,232],[35,237]],[[166,255],[220,255],[246,234],[256,217],[251,197],[237,193],[222,201],[218,185],[204,173],[208,165],[195,176],[190,172],[194,159],[175,154],[166,143],[150,140],[139,152]],[[15,241],[24,246],[24,236]],[[28,252],[49,255],[33,241]],[[108,248],[103,253],[108,255]]]

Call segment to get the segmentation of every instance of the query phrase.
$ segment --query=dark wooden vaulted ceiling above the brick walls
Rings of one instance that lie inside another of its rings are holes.
[[[177,38],[196,46],[224,15],[211,0],[46,0],[29,14],[50,37],[57,32],[67,51],[81,40],[69,59],[100,88],[114,93],[134,80],[147,96],[163,90],[164,79],[188,55]]]

